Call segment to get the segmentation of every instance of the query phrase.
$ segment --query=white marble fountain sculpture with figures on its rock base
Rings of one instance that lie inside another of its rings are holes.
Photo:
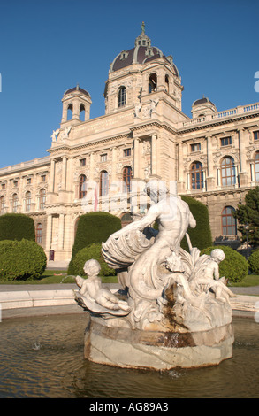
[[[147,214],[103,243],[123,290],[103,287],[95,260],[85,265],[88,279],[76,277],[75,299],[90,316],[85,358],[155,370],[218,365],[232,357],[234,341],[229,298],[235,295],[218,273],[225,254],[201,256],[192,247],[187,229],[196,221],[163,181],[149,180],[146,191],[153,202]],[[150,227],[155,220],[158,231]],[[180,247],[185,235],[189,252]]]

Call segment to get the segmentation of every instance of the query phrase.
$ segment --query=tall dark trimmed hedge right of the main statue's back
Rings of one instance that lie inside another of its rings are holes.
[[[208,208],[190,196],[181,196],[181,198],[189,205],[190,211],[194,215],[197,223],[195,228],[188,228],[187,230],[192,246],[197,247],[199,250],[206,249],[206,247],[212,245]],[[186,237],[183,238],[181,247],[189,251]]]

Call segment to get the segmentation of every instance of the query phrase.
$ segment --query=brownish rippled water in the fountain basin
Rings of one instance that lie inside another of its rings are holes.
[[[4,319],[0,397],[255,397],[258,323],[233,319],[233,357],[219,366],[165,372],[102,366],[83,357],[86,313]]]

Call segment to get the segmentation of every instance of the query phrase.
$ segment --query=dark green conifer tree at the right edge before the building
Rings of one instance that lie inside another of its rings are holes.
[[[239,221],[241,240],[244,242],[248,238],[250,245],[259,245],[259,187],[248,190],[245,204],[238,205],[232,216]]]

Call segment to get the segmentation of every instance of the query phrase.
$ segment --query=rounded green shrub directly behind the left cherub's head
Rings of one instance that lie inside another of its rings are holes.
[[[72,259],[72,270],[74,275],[83,276],[85,274],[83,267],[86,261],[91,258],[95,258],[101,266],[100,276],[114,276],[116,272],[107,265],[102,256],[101,250],[102,243],[93,243],[80,250]]]

